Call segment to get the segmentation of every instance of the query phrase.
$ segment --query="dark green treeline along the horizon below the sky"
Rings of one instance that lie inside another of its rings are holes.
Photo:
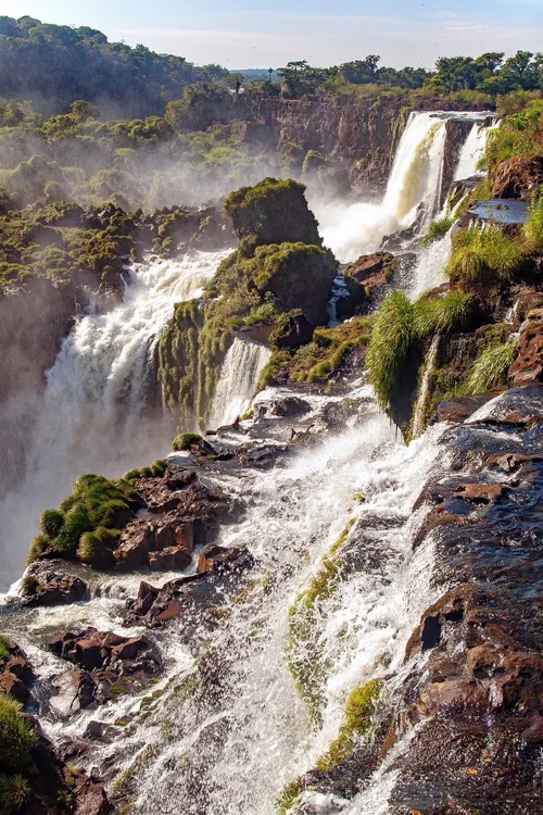
[[[543,54],[518,51],[477,58],[443,57],[434,71],[380,65],[377,54],[332,67],[307,61],[276,70],[229,72],[218,64],[197,66],[182,57],[161,54],[142,45],[109,42],[101,32],[50,25],[30,16],[0,16],[0,97],[31,101],[43,114],[67,112],[83,99],[103,118],[161,115],[187,86],[231,93],[300,98],[319,93],[471,93],[493,103],[514,90],[543,89]]]

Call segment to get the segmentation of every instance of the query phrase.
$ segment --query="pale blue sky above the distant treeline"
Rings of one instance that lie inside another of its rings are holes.
[[[543,49],[543,0],[0,0],[0,14],[89,25],[110,40],[230,68],[368,53],[430,67],[440,55]]]

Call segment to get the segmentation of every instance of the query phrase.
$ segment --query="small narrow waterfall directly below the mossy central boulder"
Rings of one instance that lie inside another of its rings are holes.
[[[266,346],[236,337],[220,369],[210,416],[211,427],[229,425],[243,414],[269,356]]]

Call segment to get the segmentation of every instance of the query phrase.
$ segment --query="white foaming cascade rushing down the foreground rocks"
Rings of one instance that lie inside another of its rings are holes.
[[[411,547],[424,511],[412,510],[435,464],[441,429],[405,447],[369,391],[361,411],[352,429],[327,435],[272,469],[215,472],[218,486],[247,507],[241,521],[223,527],[219,542],[248,547],[255,556],[250,589],[240,595],[233,589],[211,626],[200,613],[187,644],[185,619],[153,635],[167,672],[154,702],[142,703],[143,692],[99,714],[80,714],[67,729],[60,722],[48,725],[49,732],[76,736],[97,715],[110,723],[135,716],[123,741],[97,748],[92,758],[115,755],[118,778],[135,768],[132,813],[272,815],[283,785],[312,767],[337,736],[350,691],[401,668],[413,627],[433,599],[431,552]],[[345,529],[358,560],[319,604],[311,635],[326,666],[315,728],[289,673],[289,607]],[[121,607],[118,599],[96,598],[78,607],[78,623],[126,634]],[[55,611],[59,624],[68,613]],[[25,644],[23,634],[20,639]],[[202,660],[216,680],[199,690]],[[43,669],[51,673],[53,662],[50,655],[42,660]],[[388,783],[376,779],[376,794],[382,797]]]

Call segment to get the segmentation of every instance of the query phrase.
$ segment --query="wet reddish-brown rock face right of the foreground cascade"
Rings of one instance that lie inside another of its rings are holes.
[[[434,588],[454,587],[407,644],[407,661],[425,659],[395,710],[421,725],[394,763],[395,815],[539,811],[541,416],[543,388],[516,389],[442,439],[462,475],[427,485],[430,513],[416,542],[431,536]]]

